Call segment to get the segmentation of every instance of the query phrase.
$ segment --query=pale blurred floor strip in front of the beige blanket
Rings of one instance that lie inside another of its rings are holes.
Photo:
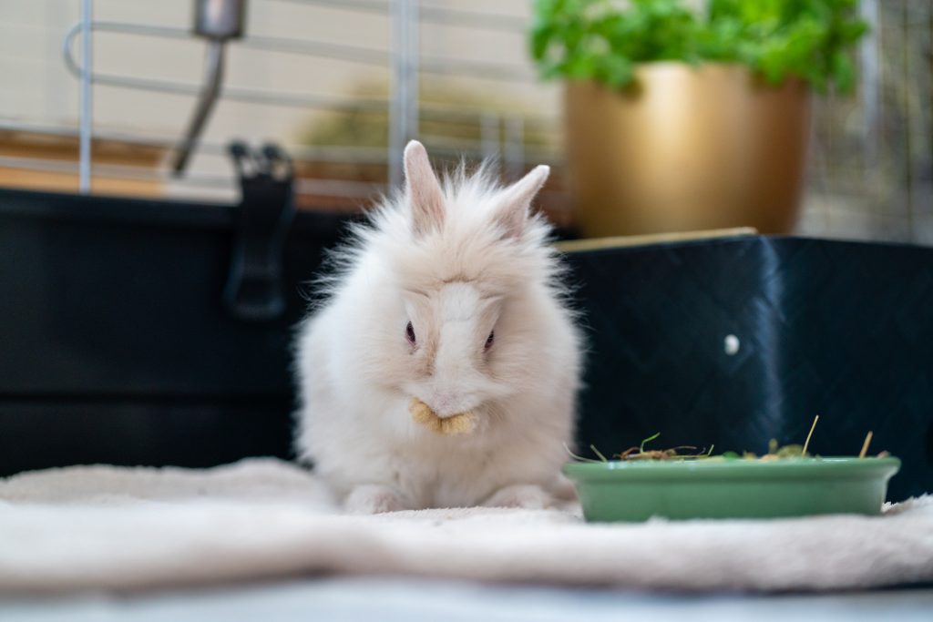
[[[648,594],[548,587],[498,587],[397,578],[317,578],[191,592],[58,600],[0,600],[4,622],[229,622],[427,620],[551,622],[628,619],[756,622],[793,619],[924,620],[933,612],[933,586],[825,595]]]

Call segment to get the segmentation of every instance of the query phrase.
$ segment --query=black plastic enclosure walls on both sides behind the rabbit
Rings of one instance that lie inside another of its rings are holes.
[[[346,219],[299,213],[285,313],[224,305],[237,208],[0,190],[0,475],[289,457],[290,342]],[[567,256],[588,336],[578,441],[903,461],[933,490],[933,249],[747,237]],[[731,346],[726,346],[729,339]],[[737,348],[735,347],[737,343]]]

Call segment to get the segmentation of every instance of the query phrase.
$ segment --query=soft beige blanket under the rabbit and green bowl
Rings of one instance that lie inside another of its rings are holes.
[[[578,508],[341,516],[312,475],[275,460],[0,480],[0,593],[332,573],[689,590],[933,582],[933,497],[876,518],[589,525]]]

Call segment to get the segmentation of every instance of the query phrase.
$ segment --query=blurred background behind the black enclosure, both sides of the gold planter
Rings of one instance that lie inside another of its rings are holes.
[[[209,60],[192,34],[195,2],[4,0],[0,186],[78,192],[84,103],[93,193],[235,202],[226,146],[271,140],[296,161],[300,209],[352,212],[399,180],[401,145],[417,137],[441,159],[497,156],[505,180],[550,164],[541,205],[575,227],[564,85],[531,59],[532,2],[245,4],[216,106],[175,175]],[[855,89],[807,104],[792,231],[933,244],[933,2],[861,0],[856,11],[870,32],[852,50]]]

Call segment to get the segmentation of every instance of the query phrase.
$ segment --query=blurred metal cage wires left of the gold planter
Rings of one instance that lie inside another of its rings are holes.
[[[458,27],[491,30],[510,33],[522,33],[526,23],[521,18],[506,14],[483,13],[448,7],[420,6],[419,0],[275,0],[309,7],[331,7],[346,11],[361,11],[384,15],[390,24],[391,46],[387,51],[366,48],[355,44],[334,44],[309,39],[296,39],[281,36],[249,35],[235,45],[260,51],[275,51],[302,56],[333,59],[362,63],[369,66],[385,67],[390,76],[390,92],[387,98],[341,96],[324,94],[296,94],[272,90],[257,90],[236,87],[224,87],[219,99],[258,105],[283,105],[306,109],[388,111],[389,136],[388,147],[368,146],[308,146],[288,145],[289,154],[302,161],[331,161],[388,164],[389,183],[401,181],[401,153],[405,143],[419,136],[419,119],[436,119],[446,122],[478,123],[481,139],[478,144],[458,141],[455,144],[443,139],[433,141],[433,151],[453,156],[466,154],[475,158],[500,156],[505,170],[511,175],[518,174],[524,167],[527,156],[536,160],[554,162],[555,154],[550,151],[526,154],[524,148],[525,120],[531,118],[543,128],[556,128],[555,118],[545,115],[522,113],[503,116],[494,110],[477,110],[424,104],[419,101],[419,76],[423,74],[440,76],[469,76],[494,81],[521,81],[533,83],[536,76],[529,64],[508,62],[476,62],[466,59],[432,58],[419,51],[419,34],[423,24],[455,24]],[[68,71],[77,78],[79,84],[79,123],[77,130],[72,127],[57,127],[41,123],[24,123],[0,119],[0,130],[30,131],[60,136],[75,136],[79,139],[77,171],[79,191],[91,192],[93,173],[130,178],[168,180],[167,171],[148,171],[134,166],[95,164],[91,151],[92,139],[108,139],[173,148],[175,143],[165,139],[155,139],[128,132],[97,130],[93,123],[94,86],[117,87],[120,89],[142,90],[153,93],[172,93],[196,97],[202,85],[172,80],[154,79],[141,76],[111,75],[93,70],[93,34],[114,33],[155,37],[165,40],[184,40],[191,38],[188,28],[153,26],[120,21],[95,21],[94,0],[79,0],[80,20],[63,35],[63,62]],[[76,58],[74,49],[79,48]],[[86,71],[91,67],[91,71]],[[502,130],[500,132],[500,129]],[[500,135],[501,134],[501,135]],[[431,137],[425,137],[432,143]],[[225,144],[200,141],[196,151],[202,154],[223,155]],[[73,172],[75,164],[63,161],[49,161],[31,158],[0,157],[0,164],[9,168],[33,169],[68,173]],[[230,176],[189,174],[172,181],[196,187],[230,187]],[[378,184],[351,180],[300,179],[296,187],[299,193],[327,194],[330,196],[365,197],[384,189]]]

